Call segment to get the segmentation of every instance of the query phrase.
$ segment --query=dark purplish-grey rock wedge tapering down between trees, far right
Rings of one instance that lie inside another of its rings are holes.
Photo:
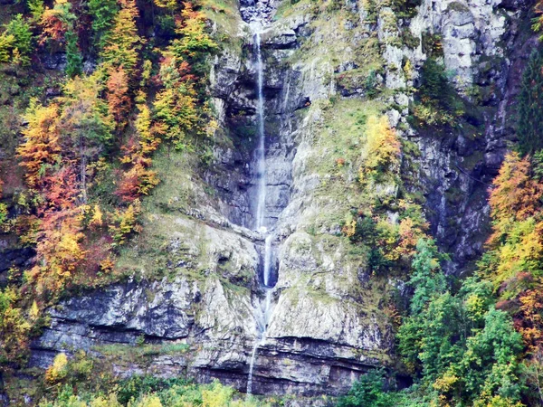
[[[405,134],[422,152],[426,213],[433,235],[452,254],[451,272],[470,270],[488,236],[487,191],[508,140],[515,138],[515,96],[521,67],[534,46],[533,35],[520,29],[530,7],[524,2],[424,1],[405,28],[421,43],[428,34],[441,39],[444,66],[472,111],[467,123],[458,123],[439,137],[428,131]],[[402,54],[417,67],[424,60],[423,50],[404,48]],[[392,113],[393,119],[401,117]],[[470,135],[465,131],[468,126],[478,129]]]

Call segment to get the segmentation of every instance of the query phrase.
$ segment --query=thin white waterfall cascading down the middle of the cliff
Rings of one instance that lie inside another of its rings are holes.
[[[254,228],[257,232],[265,235],[264,252],[262,256],[262,283],[265,291],[265,298],[255,311],[256,319],[256,339],[252,346],[251,362],[249,364],[249,377],[247,380],[247,396],[252,394],[252,373],[254,370],[254,362],[256,361],[259,345],[263,345],[266,341],[266,330],[271,314],[271,265],[272,265],[272,248],[271,242],[273,235],[268,232],[270,226],[266,222],[266,135],[264,131],[264,95],[263,95],[263,66],[262,66],[262,26],[259,23],[251,24],[252,32],[254,33],[254,52],[255,52],[255,70],[256,70],[256,85],[257,85],[257,129],[259,144],[256,149],[256,167],[257,167],[257,194],[256,194],[256,210],[254,217]]]

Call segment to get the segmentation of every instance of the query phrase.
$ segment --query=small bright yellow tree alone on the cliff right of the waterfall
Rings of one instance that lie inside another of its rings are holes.
[[[388,118],[372,116],[367,119],[366,146],[363,151],[364,162],[360,167],[360,180],[383,173],[399,164],[401,144],[390,128]]]

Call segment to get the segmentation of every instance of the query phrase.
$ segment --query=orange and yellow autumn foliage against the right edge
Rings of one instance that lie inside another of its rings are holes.
[[[532,353],[543,346],[543,185],[530,158],[511,153],[493,182],[488,277]]]

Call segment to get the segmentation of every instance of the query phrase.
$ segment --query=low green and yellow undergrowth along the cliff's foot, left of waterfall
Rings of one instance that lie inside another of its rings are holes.
[[[273,397],[247,399],[218,381],[198,384],[183,376],[150,374],[119,379],[111,366],[83,351],[71,358],[58,354],[44,374],[28,372],[34,375],[33,388],[13,389],[22,393],[11,394],[12,401],[23,405],[26,394],[40,407],[256,407],[278,402]]]

